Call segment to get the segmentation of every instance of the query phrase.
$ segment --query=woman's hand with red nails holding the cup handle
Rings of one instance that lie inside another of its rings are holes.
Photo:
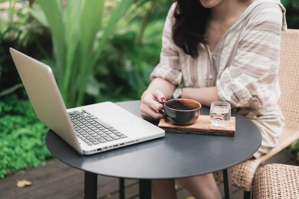
[[[163,104],[159,102],[165,102],[164,94],[159,90],[145,91],[141,97],[140,110],[142,117],[146,120],[158,120],[165,117],[160,114],[158,110],[164,109]]]

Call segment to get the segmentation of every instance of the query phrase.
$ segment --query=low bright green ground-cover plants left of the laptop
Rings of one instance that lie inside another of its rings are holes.
[[[0,101],[0,178],[52,157],[45,145],[47,130],[29,100],[10,95]]]

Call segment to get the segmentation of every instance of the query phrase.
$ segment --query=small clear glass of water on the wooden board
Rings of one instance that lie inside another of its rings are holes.
[[[215,101],[211,104],[210,122],[213,126],[228,126],[231,117],[230,103]]]

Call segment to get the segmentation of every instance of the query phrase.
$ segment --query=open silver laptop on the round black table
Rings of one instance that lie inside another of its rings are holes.
[[[163,137],[165,131],[112,102],[66,109],[49,66],[9,49],[36,116],[81,155]]]

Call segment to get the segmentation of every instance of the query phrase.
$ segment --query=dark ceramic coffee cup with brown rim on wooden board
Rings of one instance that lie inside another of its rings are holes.
[[[201,104],[195,100],[173,99],[162,104],[164,105],[164,111],[159,110],[159,113],[165,115],[169,121],[176,125],[193,124],[200,115]]]

